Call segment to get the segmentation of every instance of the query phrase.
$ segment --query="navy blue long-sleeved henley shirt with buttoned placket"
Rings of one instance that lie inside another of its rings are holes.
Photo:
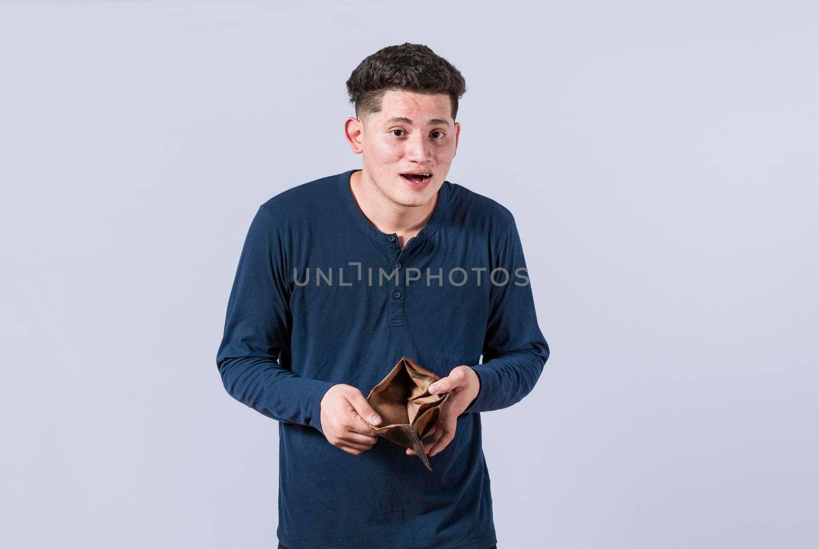
[[[480,412],[526,396],[549,358],[514,217],[444,182],[403,249],[364,217],[351,173],[274,196],[251,222],[216,363],[229,394],[279,422],[278,539],[288,549],[487,549],[497,542]],[[480,391],[429,458],[387,439],[328,443],[320,403],[364,396],[402,356]]]

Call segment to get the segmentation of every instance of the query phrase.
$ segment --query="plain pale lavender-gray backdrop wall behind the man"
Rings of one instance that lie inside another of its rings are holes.
[[[552,348],[482,414],[498,546],[817,547],[811,4],[4,2],[0,543],[275,547],[230,286],[409,41],[467,80],[447,179],[515,214]]]

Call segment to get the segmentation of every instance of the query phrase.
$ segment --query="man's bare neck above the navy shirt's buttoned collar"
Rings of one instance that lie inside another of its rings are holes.
[[[350,187],[364,217],[381,232],[398,235],[398,245],[403,248],[410,238],[417,235],[432,218],[437,205],[437,194],[427,204],[404,206],[384,196],[369,174],[355,171],[350,177]]]

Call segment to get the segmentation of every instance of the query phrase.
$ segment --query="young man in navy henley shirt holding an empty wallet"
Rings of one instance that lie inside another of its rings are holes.
[[[385,47],[347,89],[363,169],[260,206],[219,372],[279,421],[279,547],[491,549],[480,412],[526,396],[549,357],[518,229],[504,206],[446,181],[466,89],[454,66],[422,45]],[[432,471],[372,429],[381,418],[364,395],[402,356],[450,393],[424,441]]]

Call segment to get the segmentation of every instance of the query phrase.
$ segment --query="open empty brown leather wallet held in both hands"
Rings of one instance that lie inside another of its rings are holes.
[[[429,385],[439,379],[413,362],[412,358],[401,357],[396,367],[367,396],[367,402],[382,420],[382,426],[369,426],[379,436],[404,448],[412,448],[428,470],[432,470],[432,467],[423,451],[421,439],[435,426],[441,414],[441,405],[450,396],[449,393],[429,393]]]

